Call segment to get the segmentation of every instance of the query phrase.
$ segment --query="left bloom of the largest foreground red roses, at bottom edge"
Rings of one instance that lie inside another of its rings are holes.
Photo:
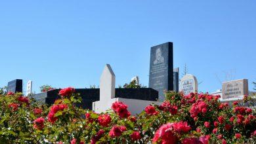
[[[177,143],[177,137],[173,133],[173,124],[163,124],[155,133],[153,142],[161,141],[161,143]]]

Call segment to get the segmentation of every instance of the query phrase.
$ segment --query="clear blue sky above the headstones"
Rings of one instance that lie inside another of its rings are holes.
[[[117,86],[135,75],[148,85],[150,47],[167,41],[174,66],[186,63],[201,91],[229,79],[249,79],[253,89],[255,0],[1,1],[0,86],[85,88],[98,85],[106,63]]]

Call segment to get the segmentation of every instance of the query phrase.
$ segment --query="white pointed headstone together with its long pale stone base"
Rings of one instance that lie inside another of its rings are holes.
[[[116,75],[114,74],[110,65],[106,65],[100,77],[100,100],[93,102],[93,111],[96,113],[102,113],[110,109],[112,103],[115,101],[121,101],[129,105],[128,110],[131,112],[131,115],[139,114],[144,110],[144,107],[152,103],[158,104],[158,101],[149,101],[142,99],[133,99],[133,98],[117,98],[116,97]],[[139,94],[138,94],[139,96]]]

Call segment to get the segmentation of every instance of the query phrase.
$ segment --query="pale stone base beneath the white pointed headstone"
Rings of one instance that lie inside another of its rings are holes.
[[[116,101],[121,101],[128,105],[128,111],[130,111],[131,115],[137,115],[141,113],[146,106],[150,104],[160,105],[159,101],[145,101],[139,99],[127,99],[127,98],[113,98],[108,101],[95,101],[93,102],[93,111],[95,113],[104,113],[108,109],[111,109],[112,103]]]

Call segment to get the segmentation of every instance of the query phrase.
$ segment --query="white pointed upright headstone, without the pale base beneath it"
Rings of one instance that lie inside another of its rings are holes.
[[[100,77],[100,101],[108,101],[115,98],[115,86],[116,75],[110,65],[106,64]]]

